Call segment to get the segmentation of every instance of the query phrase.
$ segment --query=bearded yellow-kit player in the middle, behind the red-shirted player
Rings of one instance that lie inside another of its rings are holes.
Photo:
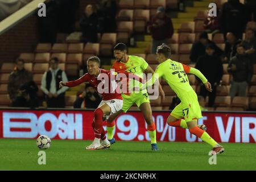
[[[148,63],[139,56],[127,55],[127,47],[123,43],[118,43],[114,47],[114,56],[116,61],[113,64],[113,69],[115,72],[129,72],[143,78],[143,72],[146,73],[154,73],[152,68],[148,65]],[[138,81],[129,81],[127,82],[127,89],[131,91],[133,88],[141,88],[142,84]],[[114,113],[107,119],[107,131],[108,131],[108,140],[111,144],[115,142],[113,138],[114,135],[114,127],[115,122],[114,119],[121,113],[126,113],[127,110],[133,104],[136,104],[139,109],[142,111],[145,121],[147,122],[147,131],[151,140],[151,149],[158,150],[158,146],[156,145],[156,130],[155,123],[152,119],[152,110],[150,106],[150,99],[148,97],[147,89],[143,89],[139,93],[135,92],[124,92],[126,90],[123,89],[122,98],[123,98],[123,107],[122,110]],[[159,87],[159,91],[164,97],[164,92],[161,87]]]

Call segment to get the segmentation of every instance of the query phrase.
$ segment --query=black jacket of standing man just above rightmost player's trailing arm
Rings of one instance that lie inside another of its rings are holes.
[[[210,56],[207,54],[200,56],[195,68],[199,69],[211,84],[220,82],[223,76],[222,62],[218,56]],[[197,78],[197,80],[201,82],[199,78]]]

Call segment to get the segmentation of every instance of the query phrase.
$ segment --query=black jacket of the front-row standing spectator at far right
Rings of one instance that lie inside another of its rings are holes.
[[[236,71],[231,71],[232,64],[236,65]],[[228,72],[232,73],[234,81],[250,83],[253,76],[253,65],[250,62],[249,56],[246,54],[234,56],[228,65]]]

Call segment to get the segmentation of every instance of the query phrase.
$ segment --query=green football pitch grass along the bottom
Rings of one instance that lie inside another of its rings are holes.
[[[88,140],[52,140],[46,165],[38,164],[35,139],[0,139],[0,170],[256,170],[256,144],[222,143],[225,152],[210,165],[206,143],[117,141],[108,150],[85,150]]]

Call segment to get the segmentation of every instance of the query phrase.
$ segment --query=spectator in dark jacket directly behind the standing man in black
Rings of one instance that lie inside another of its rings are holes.
[[[208,39],[208,34],[207,32],[201,32],[199,35],[199,40],[195,43],[193,43],[191,52],[190,52],[190,60],[192,63],[196,63],[197,59],[200,56],[205,55],[205,47],[211,44],[212,47],[214,48],[214,55],[216,56],[221,56],[223,51],[216,46],[212,41]]]

